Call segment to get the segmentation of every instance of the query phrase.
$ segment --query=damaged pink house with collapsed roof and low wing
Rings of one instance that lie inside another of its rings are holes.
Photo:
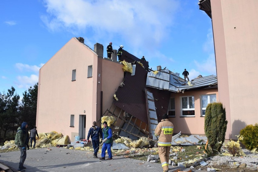
[[[39,72],[38,132],[58,131],[71,142],[87,138],[92,121],[100,126],[102,116],[113,116],[120,136],[157,140],[154,130],[168,113],[175,134],[204,134],[205,108],[218,97],[216,76],[187,83],[125,50],[121,61],[116,50],[104,58],[101,44],[92,50],[81,37],[68,41]]]

